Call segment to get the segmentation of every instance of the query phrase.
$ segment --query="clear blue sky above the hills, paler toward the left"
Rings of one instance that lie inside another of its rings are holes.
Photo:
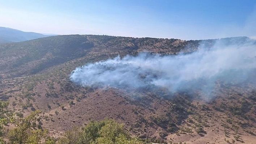
[[[0,19],[51,34],[256,38],[256,0],[0,0]]]

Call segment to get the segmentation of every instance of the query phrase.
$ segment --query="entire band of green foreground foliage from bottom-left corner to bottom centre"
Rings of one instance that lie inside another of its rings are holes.
[[[35,110],[27,117],[16,116],[6,109],[8,102],[0,100],[0,144],[5,144],[7,138],[10,144],[142,144],[136,138],[131,138],[124,130],[124,126],[113,119],[91,122],[80,130],[74,127],[65,132],[63,137],[53,139],[47,136],[48,131],[43,130],[36,121],[41,113]],[[4,132],[4,125],[12,123],[15,128]],[[37,128],[36,128],[37,126]]]

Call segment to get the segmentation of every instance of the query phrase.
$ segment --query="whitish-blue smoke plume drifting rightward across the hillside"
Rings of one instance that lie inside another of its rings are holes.
[[[200,88],[210,90],[216,80],[240,83],[256,69],[254,44],[215,44],[189,54],[140,53],[119,56],[76,68],[71,80],[82,86],[164,87],[170,92]]]

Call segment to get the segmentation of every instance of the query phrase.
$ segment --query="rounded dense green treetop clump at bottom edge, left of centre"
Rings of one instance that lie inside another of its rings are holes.
[[[73,128],[58,140],[58,144],[142,144],[136,138],[130,138],[124,126],[113,119],[90,122],[79,132]]]

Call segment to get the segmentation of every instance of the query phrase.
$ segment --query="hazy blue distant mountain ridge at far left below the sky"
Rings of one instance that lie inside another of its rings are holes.
[[[53,35],[43,35],[36,32],[24,32],[8,27],[0,27],[0,44],[22,42],[26,40],[44,38]]]

